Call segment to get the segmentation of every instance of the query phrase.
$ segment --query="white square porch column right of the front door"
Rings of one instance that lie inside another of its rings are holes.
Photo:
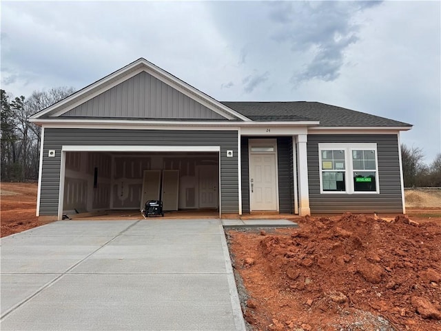
[[[306,134],[299,134],[297,137],[298,214],[300,216],[311,214],[309,209],[307,140]]]

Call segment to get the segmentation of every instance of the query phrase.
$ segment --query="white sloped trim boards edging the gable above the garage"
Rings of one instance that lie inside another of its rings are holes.
[[[107,75],[103,79],[100,79],[99,81],[86,86],[74,94],[71,94],[69,97],[54,103],[54,105],[33,114],[30,117],[30,120],[36,121],[37,119],[60,117],[66,112],[80,106],[82,103],[85,103],[86,101],[97,97],[99,94],[110,90],[114,86],[127,81],[127,79],[136,76],[136,74],[139,74],[140,72],[147,72],[148,74],[151,74],[159,81],[172,86],[172,88],[178,90],[178,92],[181,92],[185,94],[185,96],[194,99],[198,103],[201,103],[202,106],[216,112],[227,120],[234,119],[238,121],[249,121],[249,119],[243,116],[243,114],[228,108],[212,97],[209,97],[209,95],[201,92],[193,86],[190,86],[181,79],[178,79],[174,75],[166,72],[158,66],[155,66],[153,63],[143,58],[137,59],[127,66],[112,72],[112,74]]]

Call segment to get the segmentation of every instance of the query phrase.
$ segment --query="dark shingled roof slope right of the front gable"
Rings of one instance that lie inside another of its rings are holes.
[[[320,102],[241,102],[221,101],[253,121],[320,121],[320,126],[397,127],[409,123],[386,119],[365,112],[327,105]]]

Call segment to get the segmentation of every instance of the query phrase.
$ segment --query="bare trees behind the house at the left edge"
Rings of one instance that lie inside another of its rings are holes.
[[[1,92],[1,181],[34,181],[39,177],[41,128],[29,117],[75,92],[74,88],[34,91],[29,98]]]

